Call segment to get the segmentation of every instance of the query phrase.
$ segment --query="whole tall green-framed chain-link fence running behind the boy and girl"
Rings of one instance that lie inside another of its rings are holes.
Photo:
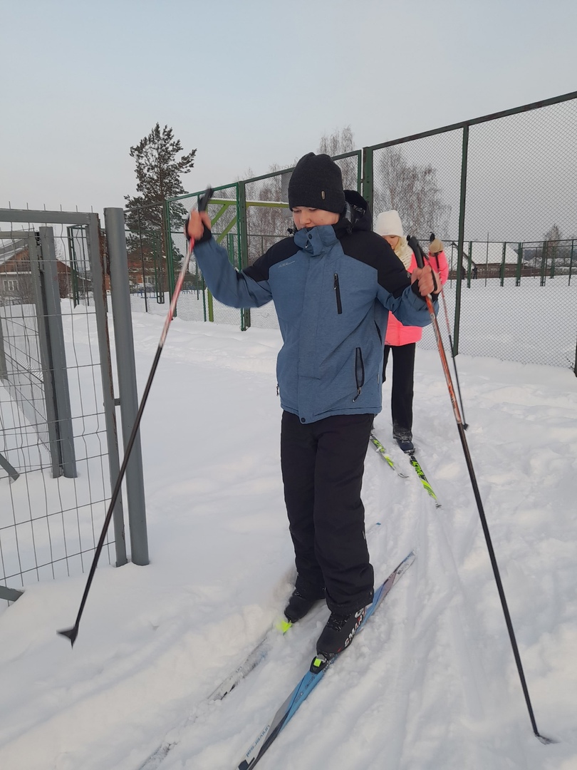
[[[359,189],[375,216],[397,209],[405,233],[423,246],[432,233],[444,242],[455,353],[577,370],[575,142],[572,92],[335,156],[345,188]],[[291,171],[218,189],[209,213],[238,268],[292,226],[286,195]],[[201,194],[178,203],[189,208]],[[182,253],[182,219],[175,227],[170,211],[167,216],[173,231],[168,249]],[[194,263],[192,271],[194,300],[185,293],[178,314],[238,323],[235,311],[212,300]],[[173,287],[172,281],[168,295]],[[240,316],[242,329],[278,325],[272,305]],[[420,344],[435,346],[432,330],[425,330]]]

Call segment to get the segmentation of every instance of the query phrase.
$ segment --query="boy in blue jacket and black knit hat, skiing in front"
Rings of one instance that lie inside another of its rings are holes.
[[[309,152],[299,160],[288,205],[295,235],[240,273],[212,239],[207,213],[192,211],[186,233],[218,301],[275,303],[283,341],[282,480],[297,567],[285,615],[299,621],[324,598],[331,615],[317,652],[331,658],[348,646],[373,597],[361,487],[372,420],[381,411],[387,316],[390,310],[406,325],[426,326],[423,297],[435,299],[440,284],[430,266],[409,280],[389,244],[372,233],[365,200],[343,190],[329,156]]]

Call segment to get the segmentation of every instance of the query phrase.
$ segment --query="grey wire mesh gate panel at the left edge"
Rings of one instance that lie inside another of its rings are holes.
[[[111,367],[97,318],[98,301],[105,303],[103,276],[98,288],[94,274],[98,226],[89,259],[87,226],[22,225],[22,216],[33,213],[2,213],[10,226],[2,225],[0,243],[0,598],[6,600],[32,582],[78,574],[91,563],[117,450],[104,406],[102,370]],[[53,236],[52,254],[43,232]],[[123,549],[111,531],[105,558],[122,563]]]

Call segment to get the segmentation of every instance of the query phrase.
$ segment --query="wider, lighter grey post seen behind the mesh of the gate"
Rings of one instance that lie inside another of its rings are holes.
[[[50,354],[52,368],[52,385],[56,405],[56,430],[60,446],[60,461],[62,473],[67,478],[76,477],[76,456],[74,450],[74,434],[72,430],[72,410],[70,407],[70,391],[68,390],[68,370],[66,368],[66,351],[64,346],[64,330],[62,328],[62,310],[60,307],[60,286],[58,283],[58,266],[54,246],[54,231],[52,227],[40,227],[40,249],[42,251],[42,268],[44,270],[44,296],[46,303],[46,325],[50,338]]]

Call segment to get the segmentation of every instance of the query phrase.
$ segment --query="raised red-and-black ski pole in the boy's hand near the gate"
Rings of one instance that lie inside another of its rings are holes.
[[[202,198],[198,201],[198,211],[204,211],[206,209],[206,207],[208,206],[208,201],[212,197],[212,192],[213,192],[212,187],[208,187],[208,189],[206,190]],[[138,427],[140,426],[142,412],[144,411],[146,400],[148,399],[148,393],[150,392],[150,388],[152,386],[152,380],[155,376],[156,367],[158,367],[158,361],[160,360],[162,348],[164,347],[164,344],[165,344],[166,335],[168,334],[168,326],[170,326],[170,323],[172,321],[172,316],[174,316],[175,314],[176,302],[178,300],[178,295],[180,294],[180,290],[182,289],[182,283],[184,282],[186,273],[188,271],[188,263],[190,262],[190,256],[192,254],[192,249],[194,248],[194,246],[195,246],[194,239],[193,238],[189,239],[188,248],[186,249],[185,258],[184,258],[184,261],[182,262],[180,273],[178,273],[178,280],[176,281],[176,284],[175,284],[175,290],[172,295],[170,307],[168,308],[168,313],[166,314],[165,324],[162,328],[162,334],[160,335],[160,341],[158,342],[158,348],[156,349],[155,358],[154,358],[154,361],[152,362],[152,368],[150,370],[150,374],[148,375],[148,380],[146,381],[144,393],[142,394],[142,400],[140,402],[140,406],[138,407],[138,412],[136,413],[134,425],[132,426],[132,431],[131,431],[130,437],[128,438],[128,443],[126,444],[124,459],[122,460],[122,465],[120,467],[120,470],[118,471],[118,479],[116,480],[114,490],[112,490],[112,497],[110,498],[110,504],[108,505],[108,511],[106,512],[104,525],[102,527],[102,533],[100,534],[100,539],[98,540],[98,544],[96,546],[94,558],[92,559],[92,565],[90,567],[90,571],[88,572],[88,580],[86,581],[84,594],[82,594],[82,601],[80,602],[80,609],[78,610],[78,615],[76,616],[75,624],[72,626],[72,628],[66,628],[63,631],[56,632],[57,634],[60,634],[61,636],[65,636],[66,638],[70,639],[70,644],[72,644],[72,647],[74,647],[76,637],[78,636],[78,627],[80,625],[80,618],[82,618],[82,612],[84,611],[86,599],[88,598],[88,591],[90,591],[92,578],[94,577],[94,574],[96,571],[96,565],[98,564],[98,558],[100,557],[100,554],[102,552],[102,547],[104,545],[106,532],[108,531],[108,525],[110,524],[110,520],[112,518],[112,511],[114,510],[116,500],[118,499],[118,494],[120,493],[120,488],[122,486],[122,479],[124,478],[126,466],[128,465],[128,460],[130,459],[130,453],[135,443],[136,434],[138,433]]]

